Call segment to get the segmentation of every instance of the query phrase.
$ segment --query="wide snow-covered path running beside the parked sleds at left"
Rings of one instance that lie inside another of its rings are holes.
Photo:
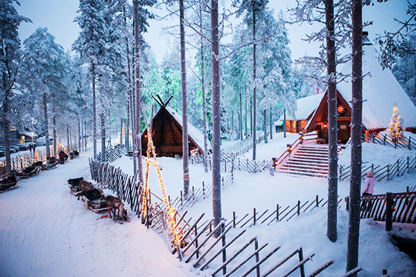
[[[89,179],[88,154],[22,179],[0,195],[0,276],[191,276],[137,217],[114,223],[77,201],[67,179]]]

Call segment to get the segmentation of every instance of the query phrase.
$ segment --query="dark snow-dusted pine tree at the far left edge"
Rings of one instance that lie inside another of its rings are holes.
[[[13,6],[15,0],[0,0],[0,99],[3,105],[1,118],[3,120],[4,144],[6,148],[6,172],[10,172],[10,96],[15,86],[18,62],[20,59],[20,39],[17,28],[22,21],[31,22],[31,19],[19,15]]]

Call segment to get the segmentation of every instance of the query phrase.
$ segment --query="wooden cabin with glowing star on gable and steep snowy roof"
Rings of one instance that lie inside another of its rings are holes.
[[[370,43],[363,45],[363,134],[378,134],[388,128],[393,114],[393,107],[397,107],[404,128],[407,132],[416,133],[416,107],[406,92],[401,88],[395,76],[388,69],[382,69],[377,53]],[[340,71],[344,75],[351,73],[351,61],[347,62]],[[351,78],[337,84],[337,112],[338,112],[338,143],[346,143],[351,134]],[[306,131],[316,130],[318,137],[328,141],[328,103],[327,93],[324,94],[313,116],[306,125]]]

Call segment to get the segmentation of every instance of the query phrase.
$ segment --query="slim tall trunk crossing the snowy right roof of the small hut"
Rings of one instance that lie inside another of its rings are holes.
[[[188,101],[187,60],[185,57],[184,0],[179,0],[180,14],[180,71],[182,77],[182,163],[184,170],[184,195],[189,193],[189,145],[188,145]]]

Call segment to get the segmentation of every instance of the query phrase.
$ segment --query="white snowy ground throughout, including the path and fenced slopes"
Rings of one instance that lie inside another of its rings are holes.
[[[297,134],[288,134],[286,139],[282,136],[281,133],[274,134],[268,144],[257,145],[257,159],[279,157],[286,150],[286,144],[297,139]],[[348,152],[340,155],[340,164],[347,164]],[[196,271],[168,253],[162,236],[145,229],[131,211],[132,221],[121,225],[109,218],[99,219],[101,214],[87,210],[71,195],[67,179],[80,176],[91,179],[87,163],[91,155],[91,152],[83,153],[64,166],[21,180],[17,189],[0,195],[0,276],[205,276],[207,272]],[[415,152],[363,144],[363,161],[377,165],[392,163],[390,158],[394,162],[410,155]],[[252,153],[245,156],[252,157]],[[163,166],[168,195],[177,197],[183,186],[182,161],[171,158],[159,158],[158,161]],[[114,165],[132,175],[130,158],[123,157]],[[202,166],[190,166],[190,179],[191,186],[197,188],[202,186],[202,181],[211,183],[211,172],[205,173]],[[378,182],[374,194],[406,191],[406,186],[415,186],[414,179],[415,173]],[[160,195],[154,172],[150,172],[150,186],[153,193]],[[344,198],[348,194],[349,181],[341,181],[338,195]],[[326,198],[327,179],[236,171],[234,185],[222,191],[223,217],[232,219],[233,211],[238,216],[251,214],[253,208],[272,210],[276,204],[294,206],[298,200],[315,199],[315,195]],[[206,199],[193,206],[189,216],[196,218],[206,213],[206,217],[210,217],[211,211],[211,199]],[[289,222],[250,228],[246,237],[257,236],[260,244],[269,243],[269,250],[281,245],[270,258],[270,264],[262,267],[264,269],[301,245],[304,256],[315,253],[313,262],[306,263],[306,273],[333,258],[335,263],[320,276],[341,276],[345,272],[348,214],[344,204],[338,211],[338,240],[335,243],[326,236],[326,208],[301,214]],[[236,234],[239,231],[230,232]],[[406,229],[400,232],[415,234]],[[359,266],[363,271],[358,276],[379,277],[383,268],[388,269],[390,276],[415,276],[416,262],[400,252],[390,242],[384,227],[373,220],[361,220],[359,250]],[[279,273],[276,271],[271,276],[279,276]]]

